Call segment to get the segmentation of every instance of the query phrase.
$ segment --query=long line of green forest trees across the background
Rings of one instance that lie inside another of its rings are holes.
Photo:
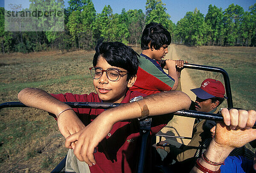
[[[32,5],[44,1],[30,0]],[[64,4],[63,0],[53,0]],[[61,52],[76,49],[93,50],[100,37],[138,46],[145,25],[161,23],[172,34],[172,43],[189,46],[256,46],[256,3],[248,11],[230,4],[227,9],[208,7],[204,16],[195,8],[177,22],[170,20],[166,5],[161,0],[147,0],[142,9],[113,14],[111,6],[96,13],[91,0],[69,0],[64,9],[63,32],[10,32],[5,31],[5,9],[0,7],[0,52],[37,52],[58,49]],[[19,5],[12,4],[19,8]],[[63,6],[64,8],[64,6]]]

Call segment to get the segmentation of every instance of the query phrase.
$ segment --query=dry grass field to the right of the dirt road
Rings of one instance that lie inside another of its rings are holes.
[[[176,53],[189,63],[216,66],[227,71],[230,77],[233,106],[256,109],[256,48],[255,47],[189,47],[175,45]],[[224,83],[221,74],[189,69],[197,86],[206,78],[215,78]],[[227,104],[221,105],[226,106]]]

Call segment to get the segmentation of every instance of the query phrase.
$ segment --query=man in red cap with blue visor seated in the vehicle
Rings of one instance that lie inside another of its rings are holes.
[[[217,113],[217,107],[224,101],[224,98],[226,98],[223,84],[211,78],[205,79],[200,88],[190,90],[194,92],[197,97],[195,102],[192,101],[189,110]],[[181,172],[191,170],[195,165],[196,157],[194,156],[198,146],[206,138],[211,138],[210,129],[215,125],[215,121],[209,120],[202,120],[196,123],[193,127],[192,140],[188,145],[182,145],[180,148],[176,148],[176,146],[170,145],[166,143],[166,141],[161,141],[159,144],[163,145],[163,147],[157,146],[157,151],[163,160],[163,164],[170,164],[172,160],[175,160],[175,165],[177,168],[182,169],[182,171],[180,170]]]

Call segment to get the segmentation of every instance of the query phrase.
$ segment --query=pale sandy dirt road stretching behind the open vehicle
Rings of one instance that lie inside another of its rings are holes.
[[[184,59],[182,57],[179,57],[176,54],[175,51],[175,45],[171,44],[168,47],[169,53],[166,54],[165,59],[173,59],[173,60],[178,60],[178,59]],[[181,72],[181,88],[182,91],[185,92],[187,95],[192,100],[195,100],[195,94],[190,91],[192,88],[196,88],[194,85],[193,81],[188,75],[188,70],[183,69]],[[159,133],[161,134],[167,134],[171,136],[184,136],[184,137],[191,137],[192,136],[192,129],[193,129],[193,124],[194,124],[194,118],[186,118],[186,117],[181,117],[181,116],[174,116],[172,121],[170,121],[165,128],[163,128]],[[162,141],[165,138],[162,138]],[[179,139],[179,138],[170,138],[173,141],[177,141],[181,144],[188,144],[189,139]],[[157,138],[158,140],[158,138]],[[174,144],[175,144],[174,142]],[[178,145],[178,144],[177,144]]]

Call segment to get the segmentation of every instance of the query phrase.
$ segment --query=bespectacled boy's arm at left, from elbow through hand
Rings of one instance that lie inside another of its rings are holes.
[[[67,104],[58,101],[44,90],[37,88],[25,88],[21,90],[18,94],[18,99],[26,106],[45,110],[55,115],[58,115],[67,108],[71,108]],[[58,128],[65,138],[73,133],[77,133],[84,127],[84,124],[73,110],[64,111],[58,117]]]

